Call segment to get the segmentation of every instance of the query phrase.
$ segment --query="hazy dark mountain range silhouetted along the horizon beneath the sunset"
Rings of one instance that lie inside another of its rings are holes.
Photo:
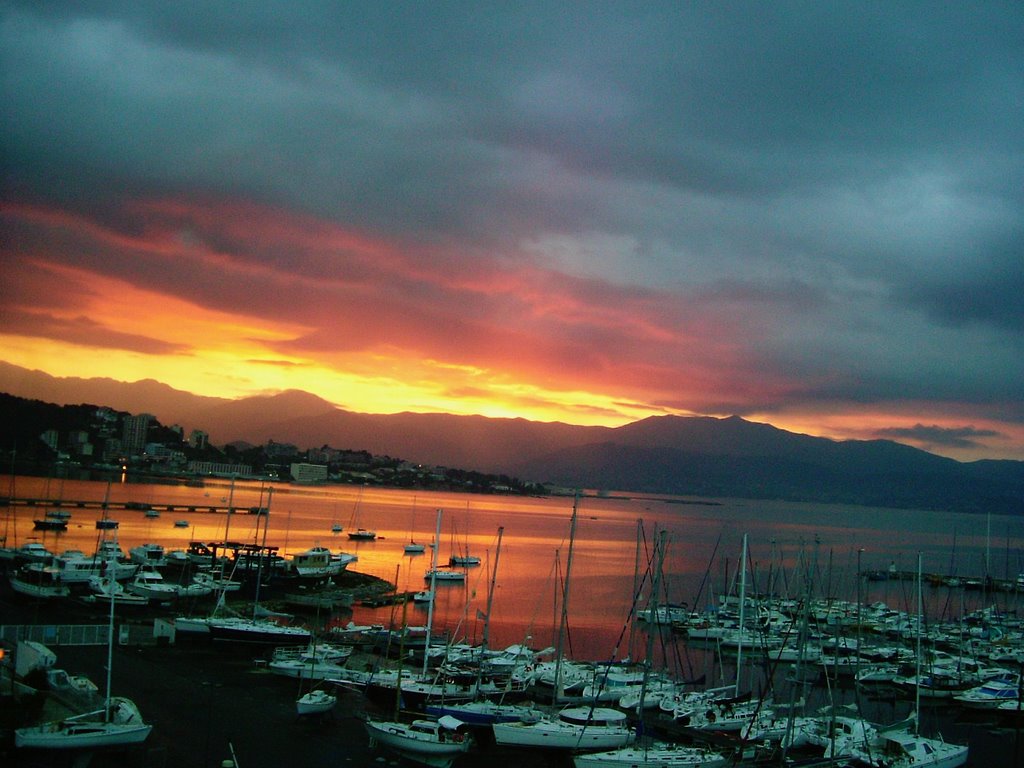
[[[238,400],[153,380],[55,378],[0,362],[0,391],[202,429],[215,444],[331,445],[556,485],[1020,514],[1024,462],[962,463],[891,440],[837,441],[739,417],[584,427],[450,414],[358,414],[291,390]]]

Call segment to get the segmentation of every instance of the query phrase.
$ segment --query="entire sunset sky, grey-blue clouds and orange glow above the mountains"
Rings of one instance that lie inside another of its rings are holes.
[[[1024,4],[0,1],[0,359],[1024,459]]]

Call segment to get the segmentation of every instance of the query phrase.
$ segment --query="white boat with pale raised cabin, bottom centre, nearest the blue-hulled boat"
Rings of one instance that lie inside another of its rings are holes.
[[[495,723],[495,741],[505,746],[614,750],[633,743],[626,713],[607,707],[566,707],[536,723]]]

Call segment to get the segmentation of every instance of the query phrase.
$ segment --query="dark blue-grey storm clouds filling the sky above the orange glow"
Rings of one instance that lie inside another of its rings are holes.
[[[1019,3],[0,8],[8,198],[198,191],[656,288],[800,377],[737,412],[1024,411]]]

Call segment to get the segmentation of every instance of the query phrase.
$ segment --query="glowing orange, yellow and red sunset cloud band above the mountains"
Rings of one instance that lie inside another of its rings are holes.
[[[735,291],[683,300],[217,198],[0,215],[0,342],[8,361],[54,375],[222,397],[304,389],[378,413],[607,425],[740,413],[837,436],[910,426],[849,403],[786,411],[816,382],[758,354],[772,318]]]

